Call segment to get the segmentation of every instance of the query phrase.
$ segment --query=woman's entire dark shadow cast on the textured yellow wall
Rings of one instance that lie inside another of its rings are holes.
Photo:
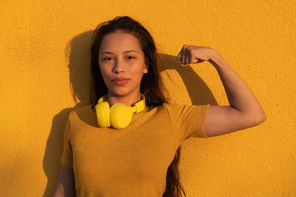
[[[93,30],[75,36],[67,44],[65,49],[65,60],[70,72],[70,91],[76,105],[73,108],[63,109],[59,114],[55,115],[52,120],[52,129],[47,139],[43,159],[44,172],[48,178],[43,195],[44,197],[52,196],[57,184],[61,165],[60,159],[64,146],[64,132],[68,116],[71,111],[90,105],[89,47],[92,34]],[[204,81],[190,66],[182,67],[181,62],[176,59],[176,55],[177,54],[165,55],[158,53],[158,60],[160,59],[164,66],[163,68],[163,66],[159,64],[160,72],[164,71],[164,69],[175,69],[179,73],[189,93],[192,105],[218,105]],[[165,73],[165,71],[163,73]],[[78,103],[77,98],[81,102]],[[172,101],[173,100],[174,99],[172,99]],[[52,166],[52,164],[55,164],[55,166]]]

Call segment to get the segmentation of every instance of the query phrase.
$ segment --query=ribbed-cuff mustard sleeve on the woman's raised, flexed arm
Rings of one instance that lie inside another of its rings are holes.
[[[172,128],[181,141],[190,137],[208,138],[203,129],[208,105],[165,104]]]

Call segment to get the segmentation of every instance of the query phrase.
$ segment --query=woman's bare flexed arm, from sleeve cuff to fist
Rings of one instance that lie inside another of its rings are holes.
[[[266,120],[266,114],[255,95],[218,51],[209,47],[184,45],[177,59],[182,61],[183,66],[209,61],[223,83],[230,106],[209,106],[204,126],[207,137],[254,127]]]

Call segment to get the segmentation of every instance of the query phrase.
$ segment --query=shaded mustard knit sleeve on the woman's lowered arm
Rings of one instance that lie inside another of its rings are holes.
[[[70,115],[71,115],[71,113],[70,113]],[[70,135],[71,135],[70,115],[68,117],[66,128],[65,128],[64,150],[63,150],[63,155],[61,158],[61,163],[66,168],[73,168],[73,153],[72,153],[72,146],[70,143]]]

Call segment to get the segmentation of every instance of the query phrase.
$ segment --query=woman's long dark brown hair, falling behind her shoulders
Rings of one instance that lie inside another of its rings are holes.
[[[147,29],[128,16],[115,17],[113,20],[102,22],[94,30],[90,47],[90,103],[97,104],[99,98],[108,93],[108,88],[104,83],[99,67],[99,47],[104,35],[117,30],[131,34],[139,40],[145,60],[149,63],[147,68],[148,73],[143,75],[140,85],[140,93],[145,96],[146,106],[156,107],[163,103],[169,103],[170,98],[167,96],[169,95],[168,90],[165,88],[158,68],[155,42]],[[179,146],[172,163],[168,167],[165,193],[163,196],[179,197],[181,196],[180,190],[185,195],[184,189],[179,182],[178,164],[180,151],[181,148]]]

